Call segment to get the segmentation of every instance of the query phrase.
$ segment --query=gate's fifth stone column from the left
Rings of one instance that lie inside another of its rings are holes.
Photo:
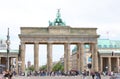
[[[79,71],[84,71],[84,43],[78,44],[78,53],[79,53]]]

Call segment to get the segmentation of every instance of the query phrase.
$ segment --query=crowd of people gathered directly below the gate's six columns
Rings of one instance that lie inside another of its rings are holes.
[[[22,76],[77,76],[82,75],[83,79],[85,79],[87,76],[91,75],[92,79],[101,79],[101,73],[100,72],[88,72],[84,70],[83,72],[78,72],[75,70],[69,71],[69,72],[62,72],[62,71],[29,71],[21,74]]]

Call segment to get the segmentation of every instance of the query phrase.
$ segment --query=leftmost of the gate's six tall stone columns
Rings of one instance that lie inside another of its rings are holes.
[[[25,43],[21,42],[21,53],[20,53],[20,57],[21,57],[21,69],[22,72],[25,72]]]

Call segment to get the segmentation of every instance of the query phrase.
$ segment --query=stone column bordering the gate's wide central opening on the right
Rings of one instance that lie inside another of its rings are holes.
[[[70,44],[64,44],[64,72],[70,71]]]

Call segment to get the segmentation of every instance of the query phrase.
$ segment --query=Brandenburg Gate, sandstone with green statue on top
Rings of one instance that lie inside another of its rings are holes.
[[[64,45],[64,72],[70,71],[70,44],[77,45],[78,70],[84,70],[84,45],[90,44],[92,69],[98,71],[97,28],[72,28],[66,26],[58,11],[55,21],[49,27],[21,27],[22,72],[25,71],[25,45],[34,44],[34,68],[39,70],[39,44],[47,45],[47,72],[52,71],[52,44]]]

